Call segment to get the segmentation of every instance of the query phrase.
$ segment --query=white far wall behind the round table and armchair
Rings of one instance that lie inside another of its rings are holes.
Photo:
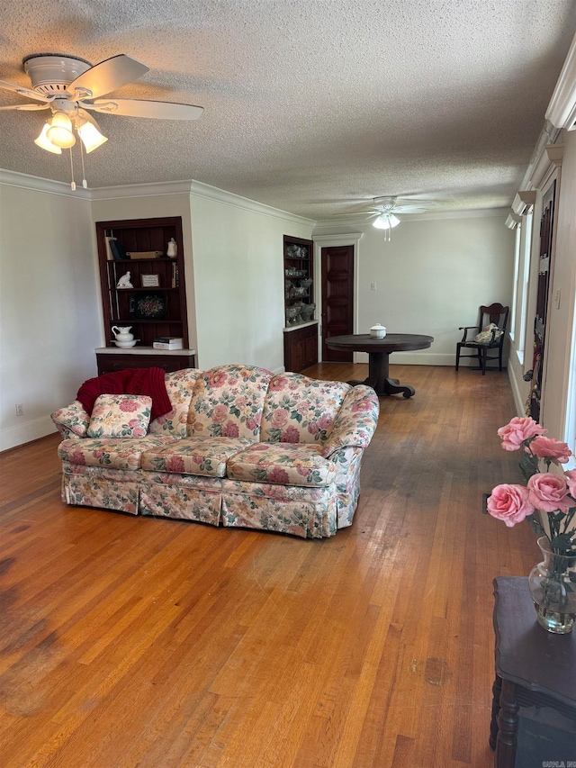
[[[511,305],[514,234],[505,219],[501,212],[405,216],[390,242],[371,223],[356,224],[353,229],[364,237],[356,261],[355,332],[367,333],[381,322],[391,333],[428,334],[435,339],[429,349],[397,353],[392,362],[454,366],[458,328],[478,321],[481,304]],[[344,231],[352,228],[322,225],[314,235]]]

